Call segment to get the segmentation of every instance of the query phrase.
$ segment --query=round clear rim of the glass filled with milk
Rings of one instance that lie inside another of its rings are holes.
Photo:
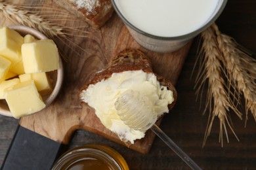
[[[226,3],[228,0],[223,0],[223,3],[221,4],[221,6],[219,7],[219,10],[216,12],[216,14],[211,18],[211,20],[209,20],[205,25],[203,25],[203,27],[200,27],[199,29],[196,29],[195,31],[192,31],[190,33],[184,34],[184,35],[179,35],[179,36],[175,36],[175,37],[161,37],[161,36],[157,36],[157,35],[152,35],[150,33],[146,33],[145,31],[142,31],[141,29],[139,29],[138,27],[135,27],[135,25],[131,24],[131,22],[129,22],[121,13],[121,11],[117,8],[117,5],[115,3],[115,1],[118,0],[111,0],[112,1],[112,5],[114,7],[114,9],[116,10],[117,15],[121,18],[121,20],[125,23],[125,25],[128,25],[129,27],[131,27],[133,30],[139,32],[142,35],[145,35],[146,37],[150,37],[152,39],[159,39],[159,40],[164,40],[164,41],[170,41],[170,40],[179,40],[179,39],[190,39],[192,37],[196,37],[196,35],[198,35],[199,33],[201,33],[202,31],[204,31],[205,29],[207,29],[207,27],[209,27],[211,24],[213,24],[213,22],[215,22],[215,20],[217,20],[217,18],[221,15],[221,13],[224,10],[224,7],[226,6]]]

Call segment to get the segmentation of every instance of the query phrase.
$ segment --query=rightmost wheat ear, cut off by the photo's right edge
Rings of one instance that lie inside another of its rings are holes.
[[[235,84],[238,93],[242,92],[244,94],[245,125],[249,111],[253,114],[256,121],[256,60],[242,52],[231,37],[219,31],[216,24],[213,24],[211,27],[213,27],[217,35],[219,48],[224,54],[223,61],[230,79]]]

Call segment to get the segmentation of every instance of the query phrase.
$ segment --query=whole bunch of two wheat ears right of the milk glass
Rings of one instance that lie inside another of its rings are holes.
[[[205,82],[208,82],[203,114],[206,109],[210,110],[203,146],[211,133],[215,116],[218,116],[220,121],[219,142],[223,146],[223,131],[228,141],[226,124],[238,139],[230,124],[228,113],[231,109],[242,119],[242,113],[237,109],[242,94],[245,99],[245,126],[248,112],[253,114],[256,121],[256,60],[251,58],[247,50],[242,49],[232,37],[221,33],[216,24],[203,31],[201,38],[202,48],[196,61],[200,63],[200,69],[195,87],[198,87],[196,94],[202,95],[200,91]]]

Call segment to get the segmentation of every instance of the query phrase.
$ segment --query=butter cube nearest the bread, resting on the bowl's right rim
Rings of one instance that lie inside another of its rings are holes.
[[[25,73],[39,73],[59,69],[58,48],[53,40],[22,44],[22,59]]]

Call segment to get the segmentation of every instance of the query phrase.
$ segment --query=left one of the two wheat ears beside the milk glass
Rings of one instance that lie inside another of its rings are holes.
[[[234,110],[234,112],[236,112],[236,114],[240,118],[242,118],[242,115],[236,109],[236,107],[234,107],[234,103],[230,101],[228,93],[224,90],[226,88],[226,85],[224,84],[224,79],[222,77],[224,68],[223,65],[221,65],[220,61],[220,56],[222,56],[223,54],[221,54],[219,47],[217,46],[216,37],[214,35],[213,29],[209,27],[207,30],[203,31],[201,36],[203,42],[200,56],[203,57],[203,59],[200,60],[202,63],[200,73],[198,73],[198,75],[203,76],[198,76],[196,78],[196,85],[199,86],[197,91],[198,93],[202,88],[204,82],[208,80],[208,92],[205,108],[209,107],[210,110],[207,128],[205,130],[205,137],[203,140],[203,146],[206,143],[207,137],[211,133],[211,127],[213,126],[213,121],[216,116],[219,118],[220,122],[219,142],[221,143],[221,146],[223,146],[223,131],[226,134],[226,140],[229,142],[226,124],[228,125],[232,133],[234,133],[236,139],[238,139],[229,122],[230,120],[228,119],[228,110]],[[200,81],[202,82],[200,83]],[[213,110],[211,111],[212,105]]]

